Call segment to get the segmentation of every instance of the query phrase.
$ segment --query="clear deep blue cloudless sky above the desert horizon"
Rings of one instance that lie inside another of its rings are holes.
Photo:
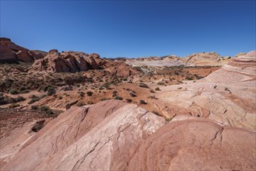
[[[255,0],[6,1],[1,37],[29,49],[145,57],[255,50]]]

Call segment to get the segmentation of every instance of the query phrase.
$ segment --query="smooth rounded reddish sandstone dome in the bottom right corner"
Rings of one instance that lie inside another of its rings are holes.
[[[255,138],[209,120],[170,122],[143,142],[127,170],[255,170]]]

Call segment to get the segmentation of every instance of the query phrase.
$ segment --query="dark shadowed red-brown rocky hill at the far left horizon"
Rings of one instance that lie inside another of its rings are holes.
[[[42,58],[42,56],[14,44],[10,39],[0,38],[0,63],[32,62],[39,58]]]

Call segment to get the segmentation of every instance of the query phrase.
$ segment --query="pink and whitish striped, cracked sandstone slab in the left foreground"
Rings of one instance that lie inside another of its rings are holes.
[[[26,141],[1,169],[124,170],[142,141],[163,124],[163,117],[119,100],[72,107]]]

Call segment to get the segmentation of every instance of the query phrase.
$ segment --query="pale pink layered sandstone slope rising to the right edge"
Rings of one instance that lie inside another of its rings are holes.
[[[152,103],[167,118],[205,117],[231,126],[256,130],[256,51],[233,58],[197,82],[163,87]]]

